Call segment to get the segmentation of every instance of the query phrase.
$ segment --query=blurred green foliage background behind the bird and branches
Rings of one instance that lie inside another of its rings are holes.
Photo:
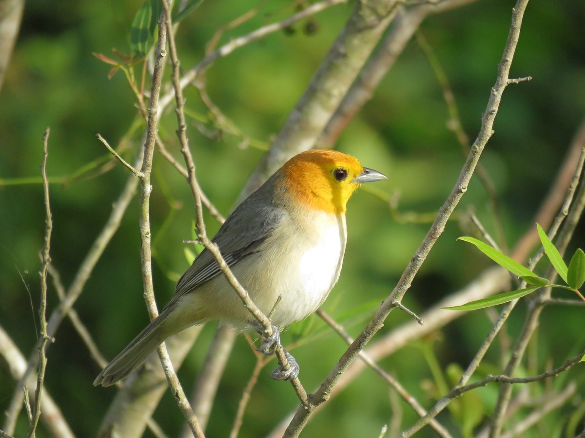
[[[51,128],[47,164],[53,182],[51,257],[68,286],[128,177],[127,169],[112,161],[95,134],[117,145],[136,118],[135,98],[123,73],[119,71],[108,79],[110,66],[92,53],[113,57],[112,48],[128,53],[130,25],[141,4],[137,0],[64,0],[32,1],[25,6],[22,28],[0,91],[0,325],[26,356],[35,344],[38,324],[37,272],[44,233],[39,172],[43,132],[47,126]],[[481,0],[431,16],[421,28],[445,70],[463,128],[472,140],[495,81],[513,5],[511,1]],[[218,27],[255,6],[257,2],[248,0],[202,2],[178,29],[183,68],[201,60],[205,44]],[[296,23],[292,32],[270,34],[236,50],[209,69],[207,89],[211,99],[254,145],[268,145],[278,132],[352,8],[353,2],[327,9]],[[221,43],[294,12],[294,2],[261,2],[260,12],[237,29],[226,31]],[[533,0],[526,11],[511,77],[530,75],[533,79],[506,89],[495,134],[481,158],[497,188],[509,246],[534,226],[534,213],[583,121],[584,16],[582,1]],[[307,27],[316,27],[316,31],[306,32]],[[140,69],[136,72],[139,75]],[[186,97],[191,114],[188,134],[199,181],[218,209],[228,214],[263,151],[242,147],[243,138],[221,132],[209,123],[207,109],[194,88],[187,90]],[[386,173],[388,180],[377,183],[375,189],[386,197],[400,193],[398,210],[426,214],[442,205],[464,162],[455,135],[446,127],[447,120],[441,86],[428,57],[416,41],[411,41],[373,99],[343,132],[336,148]],[[174,112],[169,109],[163,116],[160,133],[168,150],[180,157],[175,129]],[[212,135],[203,135],[202,131]],[[139,126],[128,135],[124,155],[128,160],[133,159],[140,146],[141,133]],[[110,165],[104,166],[104,162]],[[71,178],[88,165],[94,169]],[[153,176],[154,286],[159,305],[164,305],[173,294],[178,275],[188,267],[183,240],[192,237],[194,209],[184,179],[160,155],[155,156]],[[457,237],[470,232],[467,228],[462,230],[457,220],[470,210],[495,234],[493,208],[486,190],[474,178],[457,207],[455,219],[405,296],[407,307],[424,312],[491,266],[470,245],[456,242]],[[356,336],[380,300],[393,289],[429,224],[398,221],[388,203],[367,190],[357,193],[350,202],[347,223],[345,266],[324,309]],[[208,227],[212,234],[218,224],[210,218]],[[571,248],[577,246],[584,246],[583,231]],[[135,199],[75,305],[108,358],[118,353],[148,319],[142,298],[139,248]],[[50,288],[49,311],[56,303]],[[525,306],[518,305],[506,328],[512,339],[524,315]],[[407,315],[393,312],[382,332],[408,320]],[[323,323],[318,318],[311,317],[311,324],[309,336],[315,332],[322,336],[292,351],[301,365],[300,377],[308,391],[321,383],[345,350],[338,336],[329,330],[321,331]],[[429,406],[436,384],[429,354],[443,372],[452,363],[464,368],[490,328],[486,312],[471,312],[435,336],[393,354],[381,365]],[[296,339],[301,329],[307,327],[293,327],[285,333],[284,343]],[[213,326],[205,327],[179,372],[187,392],[213,333]],[[558,366],[577,354],[585,340],[583,308],[546,308],[537,338],[532,347],[536,360],[532,371],[543,371],[549,361]],[[56,343],[50,346],[48,359],[47,390],[74,432],[93,436],[115,390],[92,387],[99,369],[67,320],[57,332]],[[497,373],[500,361],[498,346],[494,345],[484,367]],[[219,388],[209,436],[229,433],[253,364],[253,354],[240,337],[229,360],[230,373],[223,377]],[[563,387],[567,379],[576,380],[582,394],[585,382],[577,368],[552,381],[553,387]],[[269,369],[261,373],[252,393],[242,437],[268,433],[297,406],[289,385],[271,381]],[[0,411],[5,411],[13,387],[12,378],[0,367]],[[493,385],[477,392],[486,415],[493,406],[496,389]],[[315,415],[304,436],[377,436],[393,416],[388,392],[376,374],[366,371]],[[562,436],[574,404],[580,402],[572,400],[525,436]],[[402,402],[400,405],[402,425],[407,427],[416,416],[408,406]],[[155,419],[168,436],[177,436],[183,420],[170,394],[163,398]],[[454,436],[462,436],[456,419],[448,412],[439,419],[453,430]],[[21,416],[16,436],[25,431],[26,419]],[[425,429],[420,436],[427,434],[431,436]],[[43,427],[37,436],[46,436]]]

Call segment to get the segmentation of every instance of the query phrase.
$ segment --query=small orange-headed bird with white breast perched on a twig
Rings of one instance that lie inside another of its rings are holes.
[[[324,303],[342,268],[347,201],[363,183],[383,179],[383,173],[363,167],[352,155],[304,151],[243,200],[219,228],[212,242],[254,304],[265,315],[273,312],[273,337],[263,337],[261,352],[273,352],[280,329]],[[213,320],[238,331],[254,328],[255,322],[212,253],[204,249],[178,280],[160,315],[104,367],[94,385],[115,384],[169,336]],[[290,369],[274,370],[271,377],[298,376],[297,362],[285,354]]]

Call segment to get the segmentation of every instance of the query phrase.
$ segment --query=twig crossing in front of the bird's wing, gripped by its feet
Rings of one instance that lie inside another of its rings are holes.
[[[166,19],[167,23],[171,23],[171,16],[170,12],[168,12],[168,8],[165,8]],[[173,87],[175,90],[176,102],[177,102],[177,121],[178,121],[178,130],[177,136],[179,138],[179,142],[181,145],[181,153],[185,158],[185,164],[187,165],[187,169],[189,172],[188,182],[191,186],[191,192],[193,193],[195,199],[195,207],[197,213],[197,228],[198,228],[198,235],[197,237],[201,240],[201,244],[205,246],[205,248],[212,253],[216,262],[219,265],[219,268],[222,270],[223,274],[226,276],[226,279],[230,283],[230,285],[234,288],[240,299],[242,300],[243,304],[246,306],[247,310],[256,318],[256,320],[263,326],[264,333],[267,336],[272,335],[272,326],[270,324],[270,319],[264,315],[259,308],[253,303],[250,299],[249,294],[247,291],[239,284],[236,277],[230,271],[228,265],[223,260],[221,253],[219,252],[219,248],[217,245],[212,243],[209,238],[207,237],[207,232],[205,231],[205,221],[203,218],[203,209],[201,207],[201,192],[199,189],[199,185],[197,183],[197,178],[195,176],[195,163],[191,156],[191,151],[188,147],[188,140],[187,140],[187,126],[185,125],[185,114],[183,111],[184,107],[184,98],[183,98],[183,91],[181,90],[181,86],[179,83],[179,69],[180,69],[180,62],[177,56],[177,50],[174,44],[174,38],[172,34],[169,34],[168,38],[168,46],[171,56],[171,62],[173,64],[173,74],[171,76]],[[276,348],[275,354],[278,358],[278,363],[280,363],[281,367],[284,370],[287,369],[288,360],[284,354],[282,346]],[[300,399],[301,404],[307,404],[307,392],[301,385],[300,380],[298,378],[294,378],[291,380],[292,387],[294,388],[295,392],[297,393],[297,397]]]

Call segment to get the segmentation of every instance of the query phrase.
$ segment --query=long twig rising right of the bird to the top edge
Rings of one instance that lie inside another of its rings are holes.
[[[491,89],[490,99],[481,120],[481,129],[476,141],[474,141],[472,145],[471,152],[467,157],[455,187],[453,187],[453,190],[446,199],[445,204],[443,204],[439,210],[439,214],[433,223],[431,230],[429,230],[417,252],[411,258],[411,261],[408,263],[407,268],[404,270],[404,273],[402,274],[402,277],[400,281],[398,281],[398,284],[394,288],[393,292],[381,304],[380,309],[376,312],[376,315],[372,321],[366,326],[366,328],[363,329],[362,333],[357,336],[356,340],[352,343],[349,349],[343,353],[339,362],[335,365],[335,367],[333,367],[324,383],[321,385],[321,387],[319,387],[319,389],[311,398],[311,406],[309,406],[308,409],[301,407],[297,410],[297,414],[295,415],[295,418],[292,419],[285,436],[298,436],[304,425],[307,423],[309,416],[311,416],[312,411],[314,411],[315,406],[326,400],[326,395],[329,394],[335,387],[337,381],[339,380],[339,376],[345,372],[349,364],[352,363],[352,361],[357,357],[359,351],[363,349],[363,347],[370,341],[370,339],[373,338],[376,332],[383,326],[384,321],[394,308],[392,303],[394,301],[401,301],[402,297],[412,284],[412,280],[414,280],[415,275],[422,266],[422,263],[426,259],[426,256],[431,251],[432,246],[435,244],[445,229],[445,224],[447,223],[450,214],[453,212],[453,210],[455,210],[459,200],[467,191],[467,186],[469,185],[473,171],[477,165],[477,162],[479,161],[481,152],[493,134],[492,127],[495,114],[497,114],[502,93],[507,86],[512,58],[514,57],[514,51],[518,43],[519,23],[521,22],[522,14],[524,13],[525,4],[526,0],[519,0],[517,8],[514,9],[514,13],[512,14],[510,34],[504,48],[502,60],[498,65],[498,75],[495,81],[495,85]]]

